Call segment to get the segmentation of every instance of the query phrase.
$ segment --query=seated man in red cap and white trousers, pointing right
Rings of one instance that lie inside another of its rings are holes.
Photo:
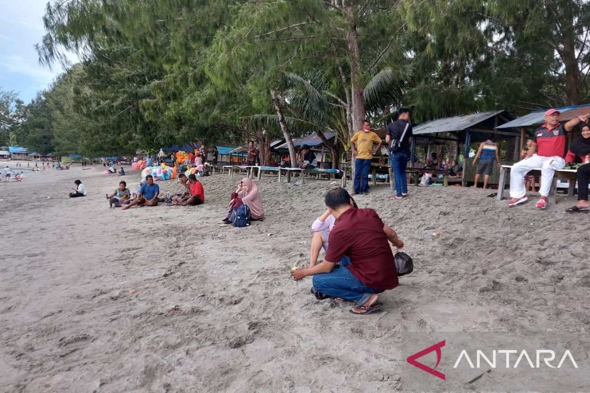
[[[573,118],[568,123],[559,123],[560,112],[550,109],[545,112],[545,124],[535,130],[533,144],[529,148],[526,158],[517,162],[510,171],[510,197],[508,206],[527,201],[525,189],[525,174],[533,169],[541,169],[541,197],[537,202],[539,209],[547,207],[547,196],[553,184],[553,174],[565,167],[565,133],[573,130],[579,123],[588,121],[588,116]]]

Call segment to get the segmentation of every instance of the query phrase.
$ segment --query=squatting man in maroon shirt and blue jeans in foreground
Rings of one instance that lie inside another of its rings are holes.
[[[398,286],[394,254],[404,243],[383,224],[375,210],[357,209],[348,191],[337,188],[326,194],[326,206],[336,218],[330,246],[322,263],[291,272],[294,280],[313,277],[312,293],[318,299],[340,298],[356,302],[350,310],[368,314],[383,307],[378,293]],[[334,269],[337,262],[340,268]]]

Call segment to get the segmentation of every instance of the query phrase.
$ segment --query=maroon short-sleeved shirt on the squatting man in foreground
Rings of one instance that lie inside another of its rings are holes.
[[[394,254],[375,210],[346,210],[336,220],[329,242],[325,260],[339,262],[346,255],[351,262],[346,266],[350,273],[369,288],[385,290],[398,286]]]

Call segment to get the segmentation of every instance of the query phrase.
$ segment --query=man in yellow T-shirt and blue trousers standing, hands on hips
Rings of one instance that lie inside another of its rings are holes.
[[[377,147],[374,149],[373,143],[377,144]],[[356,156],[355,195],[360,193],[366,195],[369,193],[369,170],[371,170],[371,158],[373,158],[373,154],[375,154],[379,150],[379,147],[381,147],[381,138],[371,131],[371,126],[369,126],[368,120],[364,120],[363,129],[350,138],[350,147],[352,148],[352,153]],[[361,178],[362,187],[360,183]]]

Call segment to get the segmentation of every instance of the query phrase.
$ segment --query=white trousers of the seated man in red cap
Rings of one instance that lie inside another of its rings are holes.
[[[565,168],[565,160],[559,156],[543,157],[533,154],[530,158],[518,161],[510,170],[510,197],[522,198],[526,194],[525,175],[533,169],[541,169],[541,188],[539,194],[549,195],[553,174],[556,170]]]

